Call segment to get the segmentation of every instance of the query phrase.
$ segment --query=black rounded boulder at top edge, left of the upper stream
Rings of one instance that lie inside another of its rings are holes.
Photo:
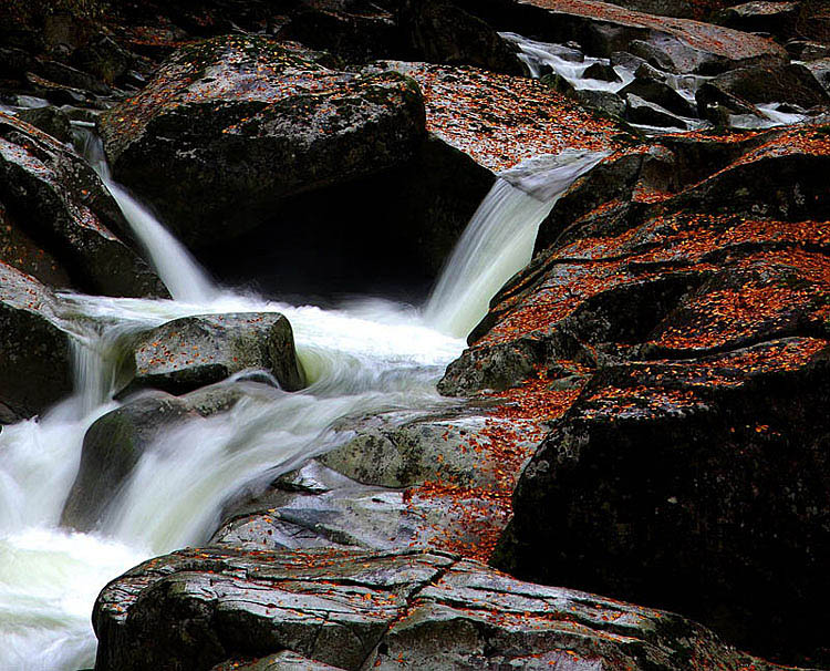
[[[481,19],[443,0],[405,0],[397,16],[412,60],[521,75],[515,50]]]

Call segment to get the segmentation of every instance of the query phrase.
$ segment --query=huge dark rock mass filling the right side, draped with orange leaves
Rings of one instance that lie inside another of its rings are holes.
[[[584,384],[519,481],[497,566],[822,659],[806,613],[830,598],[829,169],[822,126],[667,136],[557,204],[439,385]]]

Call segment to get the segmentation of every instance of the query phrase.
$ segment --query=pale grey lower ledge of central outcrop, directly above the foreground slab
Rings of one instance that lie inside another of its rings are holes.
[[[363,485],[312,461],[226,513],[210,543],[248,550],[477,547],[491,536],[483,523],[494,514],[496,505],[471,489],[427,495]]]

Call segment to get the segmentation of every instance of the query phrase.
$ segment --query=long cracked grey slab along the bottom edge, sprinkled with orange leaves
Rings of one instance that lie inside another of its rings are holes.
[[[350,671],[779,669],[671,612],[446,553],[179,550],[110,582],[93,623],[96,671],[248,668],[282,651]]]

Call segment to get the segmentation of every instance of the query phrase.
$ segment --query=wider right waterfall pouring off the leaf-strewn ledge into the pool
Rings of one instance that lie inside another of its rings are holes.
[[[490,299],[530,262],[539,225],[571,184],[606,154],[567,151],[507,171],[464,230],[425,309],[436,329],[466,337]]]

